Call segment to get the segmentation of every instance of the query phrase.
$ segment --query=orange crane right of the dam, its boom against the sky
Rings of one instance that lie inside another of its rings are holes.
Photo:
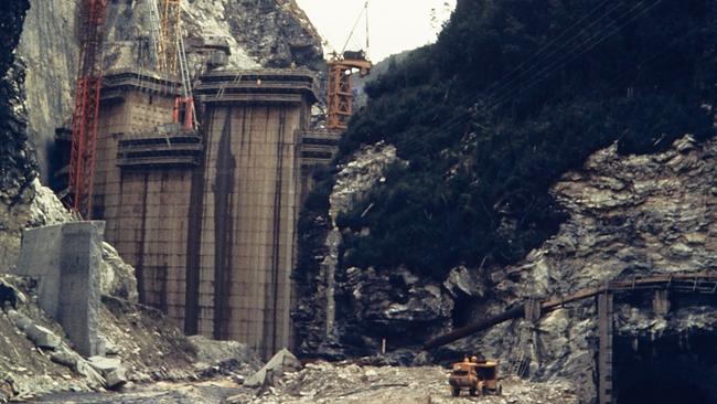
[[[364,14],[366,15],[366,51],[346,51],[349,41]],[[368,1],[366,1],[343,46],[343,51],[340,54],[334,52],[329,61],[327,129],[344,130],[349,127],[349,120],[353,114],[353,75],[358,73],[362,77],[365,77],[373,68],[373,63],[368,61],[366,55],[368,45]]]

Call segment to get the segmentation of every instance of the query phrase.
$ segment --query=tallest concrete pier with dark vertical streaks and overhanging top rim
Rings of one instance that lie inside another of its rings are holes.
[[[196,88],[206,151],[188,330],[270,357],[291,345],[290,274],[300,209],[299,131],[317,99],[308,71],[212,73]],[[190,275],[190,277],[192,277]],[[189,295],[188,295],[189,296]]]

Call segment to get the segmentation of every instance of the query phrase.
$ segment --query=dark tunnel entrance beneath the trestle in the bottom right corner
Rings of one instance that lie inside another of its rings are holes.
[[[614,339],[618,404],[717,403],[717,332]]]

